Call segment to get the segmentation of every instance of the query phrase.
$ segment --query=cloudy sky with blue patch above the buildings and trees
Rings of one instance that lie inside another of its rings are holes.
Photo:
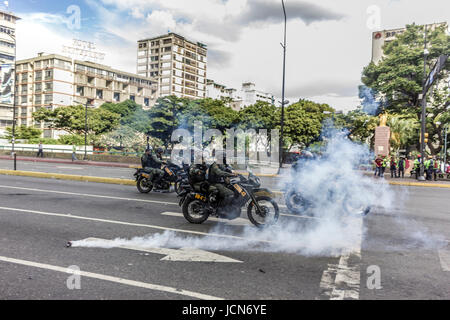
[[[360,105],[372,32],[450,23],[448,0],[285,0],[285,7],[286,99],[344,111]],[[62,54],[75,38],[96,43],[103,64],[136,73],[137,41],[170,30],[208,45],[208,79],[236,89],[254,82],[281,97],[281,0],[10,0],[9,10],[21,17],[18,59]]]

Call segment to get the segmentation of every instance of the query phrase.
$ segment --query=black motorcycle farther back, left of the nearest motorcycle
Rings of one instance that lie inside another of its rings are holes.
[[[182,172],[182,168],[174,163],[168,163],[163,167],[164,175],[157,182],[150,181],[150,172],[145,169],[137,169],[134,174],[136,178],[136,186],[140,193],[149,193],[152,190],[162,192],[172,192],[171,186],[179,179],[178,173]],[[155,179],[155,178],[153,178]]]

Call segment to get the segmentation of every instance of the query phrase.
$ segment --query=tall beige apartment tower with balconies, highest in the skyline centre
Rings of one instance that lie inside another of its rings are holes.
[[[160,96],[206,97],[207,47],[175,33],[138,41],[137,73],[157,78]]]

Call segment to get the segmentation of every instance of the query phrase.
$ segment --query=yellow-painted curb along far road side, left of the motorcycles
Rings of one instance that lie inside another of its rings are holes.
[[[119,185],[129,185],[129,186],[136,185],[136,181],[128,180],[128,179],[77,176],[77,175],[59,174],[59,173],[0,170],[0,174],[8,175],[8,176],[22,176],[22,177],[33,177],[33,178],[57,179],[57,180],[72,180],[72,181],[108,183],[108,184],[119,184]]]

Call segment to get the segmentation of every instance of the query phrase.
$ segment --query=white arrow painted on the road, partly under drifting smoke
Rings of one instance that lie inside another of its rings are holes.
[[[99,238],[88,238],[81,241],[92,242],[92,245],[94,247],[95,242],[98,242],[99,248],[104,247],[105,245],[108,246],[109,243],[113,243],[112,240],[105,240]],[[88,245],[88,247],[91,247],[91,245]],[[75,246],[75,248],[78,248],[78,246]],[[242,263],[242,261],[228,258],[220,254],[194,248],[169,249],[169,248],[151,248],[151,247],[129,246],[129,245],[121,245],[118,246],[117,248],[162,254],[165,255],[165,257],[162,258],[161,260],[167,261]]]

